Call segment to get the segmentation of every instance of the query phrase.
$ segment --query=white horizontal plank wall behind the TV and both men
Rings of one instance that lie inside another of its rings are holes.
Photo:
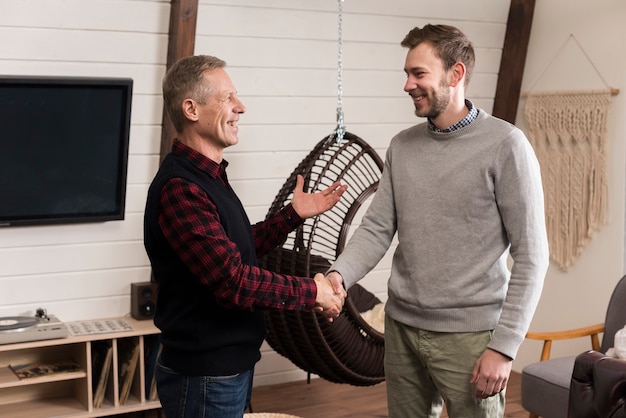
[[[343,109],[347,129],[381,156],[417,122],[402,91],[414,26],[453,24],[475,44],[468,95],[491,111],[506,29],[505,0],[345,0]],[[146,190],[158,166],[169,2],[20,0],[0,4],[0,72],[134,79],[126,219],[0,229],[0,316],[43,306],[66,321],[125,315],[130,283],[149,280],[143,250]],[[286,177],[336,124],[336,0],[200,0],[196,53],[217,55],[247,112],[227,150],[229,178],[253,221]],[[17,139],[19,140],[19,139]],[[390,257],[365,281],[385,299]],[[304,378],[263,348],[256,384]]]

